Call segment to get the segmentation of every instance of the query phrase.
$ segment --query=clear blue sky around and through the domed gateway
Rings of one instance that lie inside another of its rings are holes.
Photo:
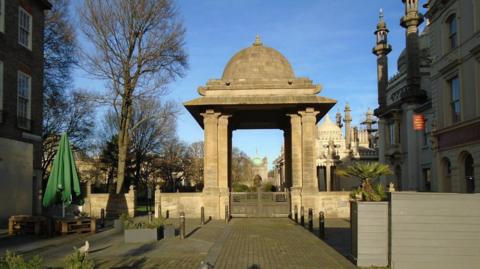
[[[186,33],[189,70],[170,85],[166,98],[179,103],[198,97],[198,86],[220,78],[228,60],[248,47],[259,34],[264,45],[280,51],[297,77],[309,77],[323,85],[322,96],[337,100],[329,115],[343,111],[348,102],[354,123],[367,108],[377,105],[376,58],[372,54],[380,8],[390,28],[393,51],[389,55],[390,76],[404,45],[401,0],[178,0]],[[424,1],[422,1],[423,4]],[[101,88],[81,71],[76,88]],[[203,140],[203,131],[182,106],[178,135],[185,142]],[[283,143],[280,130],[235,131],[233,145],[250,156],[256,150],[276,158]]]

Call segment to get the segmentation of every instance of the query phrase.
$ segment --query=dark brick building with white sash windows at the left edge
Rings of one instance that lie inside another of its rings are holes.
[[[0,220],[41,208],[46,0],[0,0]],[[14,201],[14,202],[13,202]]]

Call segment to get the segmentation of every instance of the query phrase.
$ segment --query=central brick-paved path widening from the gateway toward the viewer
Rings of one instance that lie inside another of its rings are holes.
[[[356,268],[289,219],[233,219],[215,268]]]

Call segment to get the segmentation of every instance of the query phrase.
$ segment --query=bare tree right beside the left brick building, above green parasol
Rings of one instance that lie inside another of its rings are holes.
[[[77,149],[88,146],[93,129],[93,109],[85,94],[72,91],[72,69],[77,63],[75,32],[68,16],[68,0],[52,1],[45,13],[42,124],[42,178],[55,156],[60,135],[67,133]]]

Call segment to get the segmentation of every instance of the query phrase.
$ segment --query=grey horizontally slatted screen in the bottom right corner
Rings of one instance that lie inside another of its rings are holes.
[[[395,192],[391,268],[480,268],[480,194]]]

